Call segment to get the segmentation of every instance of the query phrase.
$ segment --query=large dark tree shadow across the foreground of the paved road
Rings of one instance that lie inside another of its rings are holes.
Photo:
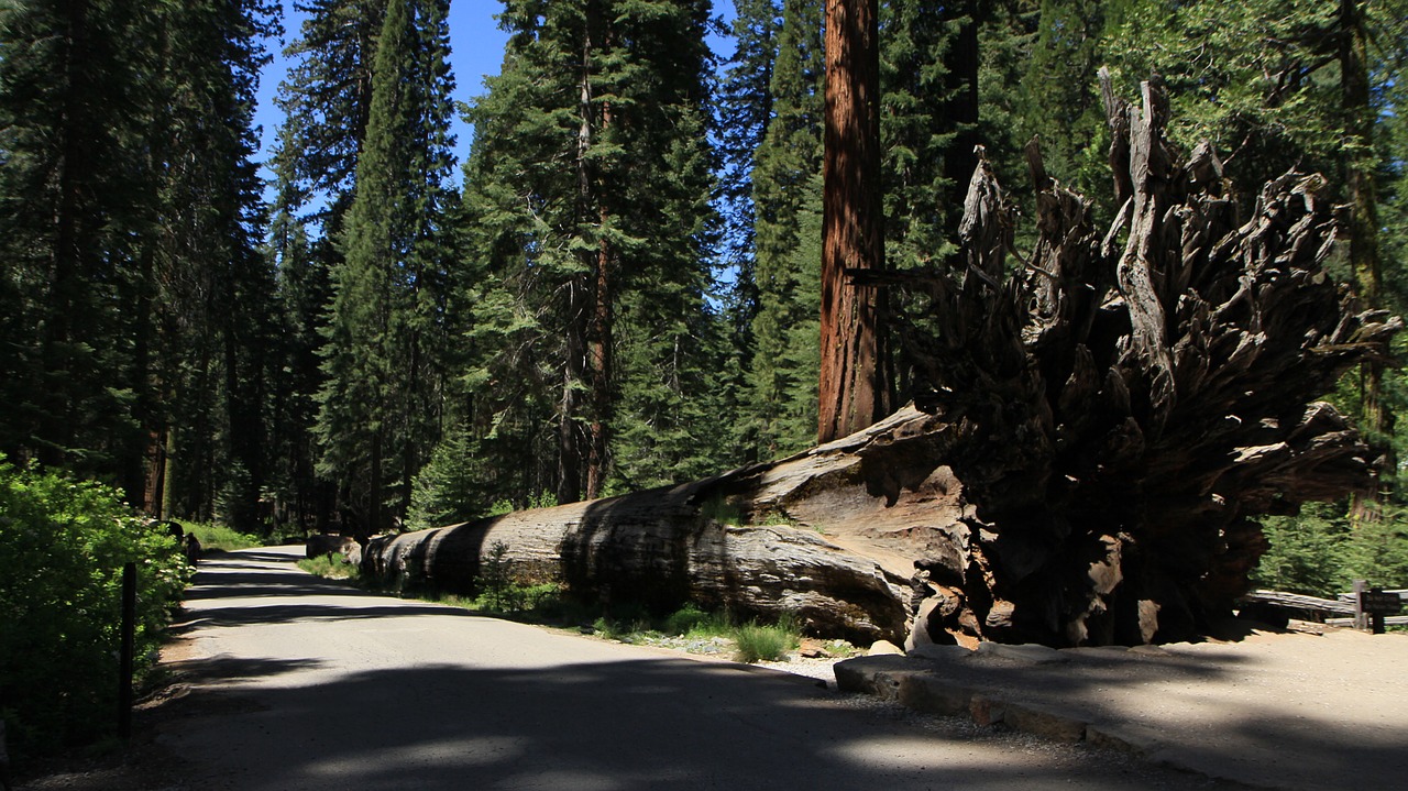
[[[1029,745],[956,723],[925,732],[890,708],[684,659],[377,670],[251,697],[260,705],[187,718],[168,742],[245,791],[1208,787],[1098,752],[1015,753]]]

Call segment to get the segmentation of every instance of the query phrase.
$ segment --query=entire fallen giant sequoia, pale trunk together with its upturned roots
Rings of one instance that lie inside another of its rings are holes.
[[[1371,486],[1370,449],[1314,400],[1401,322],[1325,273],[1319,176],[1266,184],[1239,221],[1211,148],[1180,162],[1163,139],[1156,87],[1142,108],[1104,89],[1111,228],[1033,144],[1015,272],[981,163],[956,260],[856,273],[925,305],[903,334],[922,411],[705,481],[377,539],[365,569],[469,588],[503,542],[518,576],[584,595],[794,611],[852,639],[1133,645],[1231,612],[1266,548],[1250,517]]]

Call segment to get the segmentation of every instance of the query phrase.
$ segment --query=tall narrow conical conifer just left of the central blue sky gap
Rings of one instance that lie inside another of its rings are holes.
[[[321,472],[352,498],[359,531],[389,525],[391,494],[404,518],[415,473],[439,438],[451,289],[446,11],[446,0],[387,8],[341,239],[345,260],[334,270],[317,435]]]

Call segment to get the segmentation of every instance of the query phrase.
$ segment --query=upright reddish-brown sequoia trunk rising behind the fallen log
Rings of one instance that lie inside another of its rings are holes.
[[[826,3],[826,135],[822,194],[818,442],[890,414],[883,296],[846,283],[883,269],[880,61],[874,0]]]

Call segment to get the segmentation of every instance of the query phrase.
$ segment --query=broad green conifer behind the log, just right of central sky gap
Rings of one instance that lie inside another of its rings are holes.
[[[470,113],[466,249],[482,274],[465,401],[490,452],[535,448],[514,466],[569,502],[612,470],[642,480],[618,462],[653,457],[660,438],[710,436],[686,397],[711,335],[707,4],[510,3],[500,20],[504,68]],[[543,418],[555,436],[534,428]],[[504,442],[510,429],[527,435]]]

